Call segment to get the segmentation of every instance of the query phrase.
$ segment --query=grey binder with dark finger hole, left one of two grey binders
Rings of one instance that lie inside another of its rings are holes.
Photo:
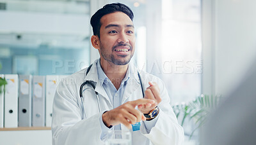
[[[19,75],[19,112],[18,112],[18,126],[31,127],[31,75]]]

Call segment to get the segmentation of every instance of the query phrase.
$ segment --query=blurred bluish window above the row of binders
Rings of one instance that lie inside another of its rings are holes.
[[[90,1],[6,1],[0,74],[72,74],[90,63]]]

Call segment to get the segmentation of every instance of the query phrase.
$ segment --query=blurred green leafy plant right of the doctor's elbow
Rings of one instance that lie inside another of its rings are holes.
[[[177,118],[180,116],[182,118],[181,126],[184,126],[185,120],[193,120],[195,123],[195,129],[191,132],[189,139],[193,136],[194,132],[204,125],[209,113],[212,109],[215,109],[219,102],[221,96],[209,96],[209,95],[200,95],[196,97],[195,100],[192,100],[188,103],[177,104],[173,106],[173,111],[175,112]]]

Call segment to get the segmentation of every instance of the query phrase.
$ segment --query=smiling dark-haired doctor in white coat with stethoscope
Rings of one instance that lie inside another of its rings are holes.
[[[131,9],[120,3],[92,16],[91,41],[100,59],[58,85],[52,144],[104,144],[113,129],[131,130],[134,145],[182,144],[184,132],[163,81],[129,63],[135,51],[132,18]],[[81,87],[85,81],[90,84]]]

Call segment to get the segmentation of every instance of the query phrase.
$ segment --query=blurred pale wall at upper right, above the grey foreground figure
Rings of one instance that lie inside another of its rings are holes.
[[[202,1],[203,92],[227,95],[256,55],[256,1]]]

